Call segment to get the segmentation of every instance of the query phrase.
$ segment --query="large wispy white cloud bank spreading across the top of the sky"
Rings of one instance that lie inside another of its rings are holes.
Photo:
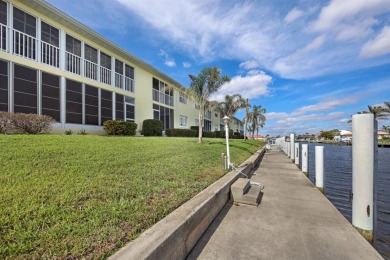
[[[302,79],[390,62],[383,55],[356,59],[386,23],[389,0],[292,0],[290,10],[266,0],[116,1],[152,29],[144,31],[201,63],[240,60],[243,69]]]

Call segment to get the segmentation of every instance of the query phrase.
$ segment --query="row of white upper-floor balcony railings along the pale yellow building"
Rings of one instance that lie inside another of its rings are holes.
[[[12,39],[9,37],[12,37]],[[36,37],[11,29],[4,24],[0,24],[0,51],[5,51],[56,68],[62,68],[64,66],[64,70],[70,73],[84,76],[110,86],[114,85],[116,88],[134,93],[133,79],[119,73],[112,75],[110,69],[64,51]],[[61,56],[62,51],[63,56]],[[64,57],[65,59],[62,66],[60,57]],[[163,103],[173,105],[173,99],[170,100],[164,97],[163,100],[166,101]]]

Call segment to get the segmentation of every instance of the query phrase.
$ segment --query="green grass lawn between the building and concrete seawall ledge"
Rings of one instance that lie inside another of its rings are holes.
[[[0,136],[0,258],[105,258],[220,178],[222,139]],[[231,140],[239,164],[262,144]]]

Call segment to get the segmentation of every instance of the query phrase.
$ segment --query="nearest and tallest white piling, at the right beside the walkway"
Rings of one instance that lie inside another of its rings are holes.
[[[373,241],[375,132],[373,114],[352,116],[352,225]]]

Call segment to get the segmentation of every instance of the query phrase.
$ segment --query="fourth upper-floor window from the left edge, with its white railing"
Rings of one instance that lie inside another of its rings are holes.
[[[66,35],[66,70],[81,74],[81,41]]]

